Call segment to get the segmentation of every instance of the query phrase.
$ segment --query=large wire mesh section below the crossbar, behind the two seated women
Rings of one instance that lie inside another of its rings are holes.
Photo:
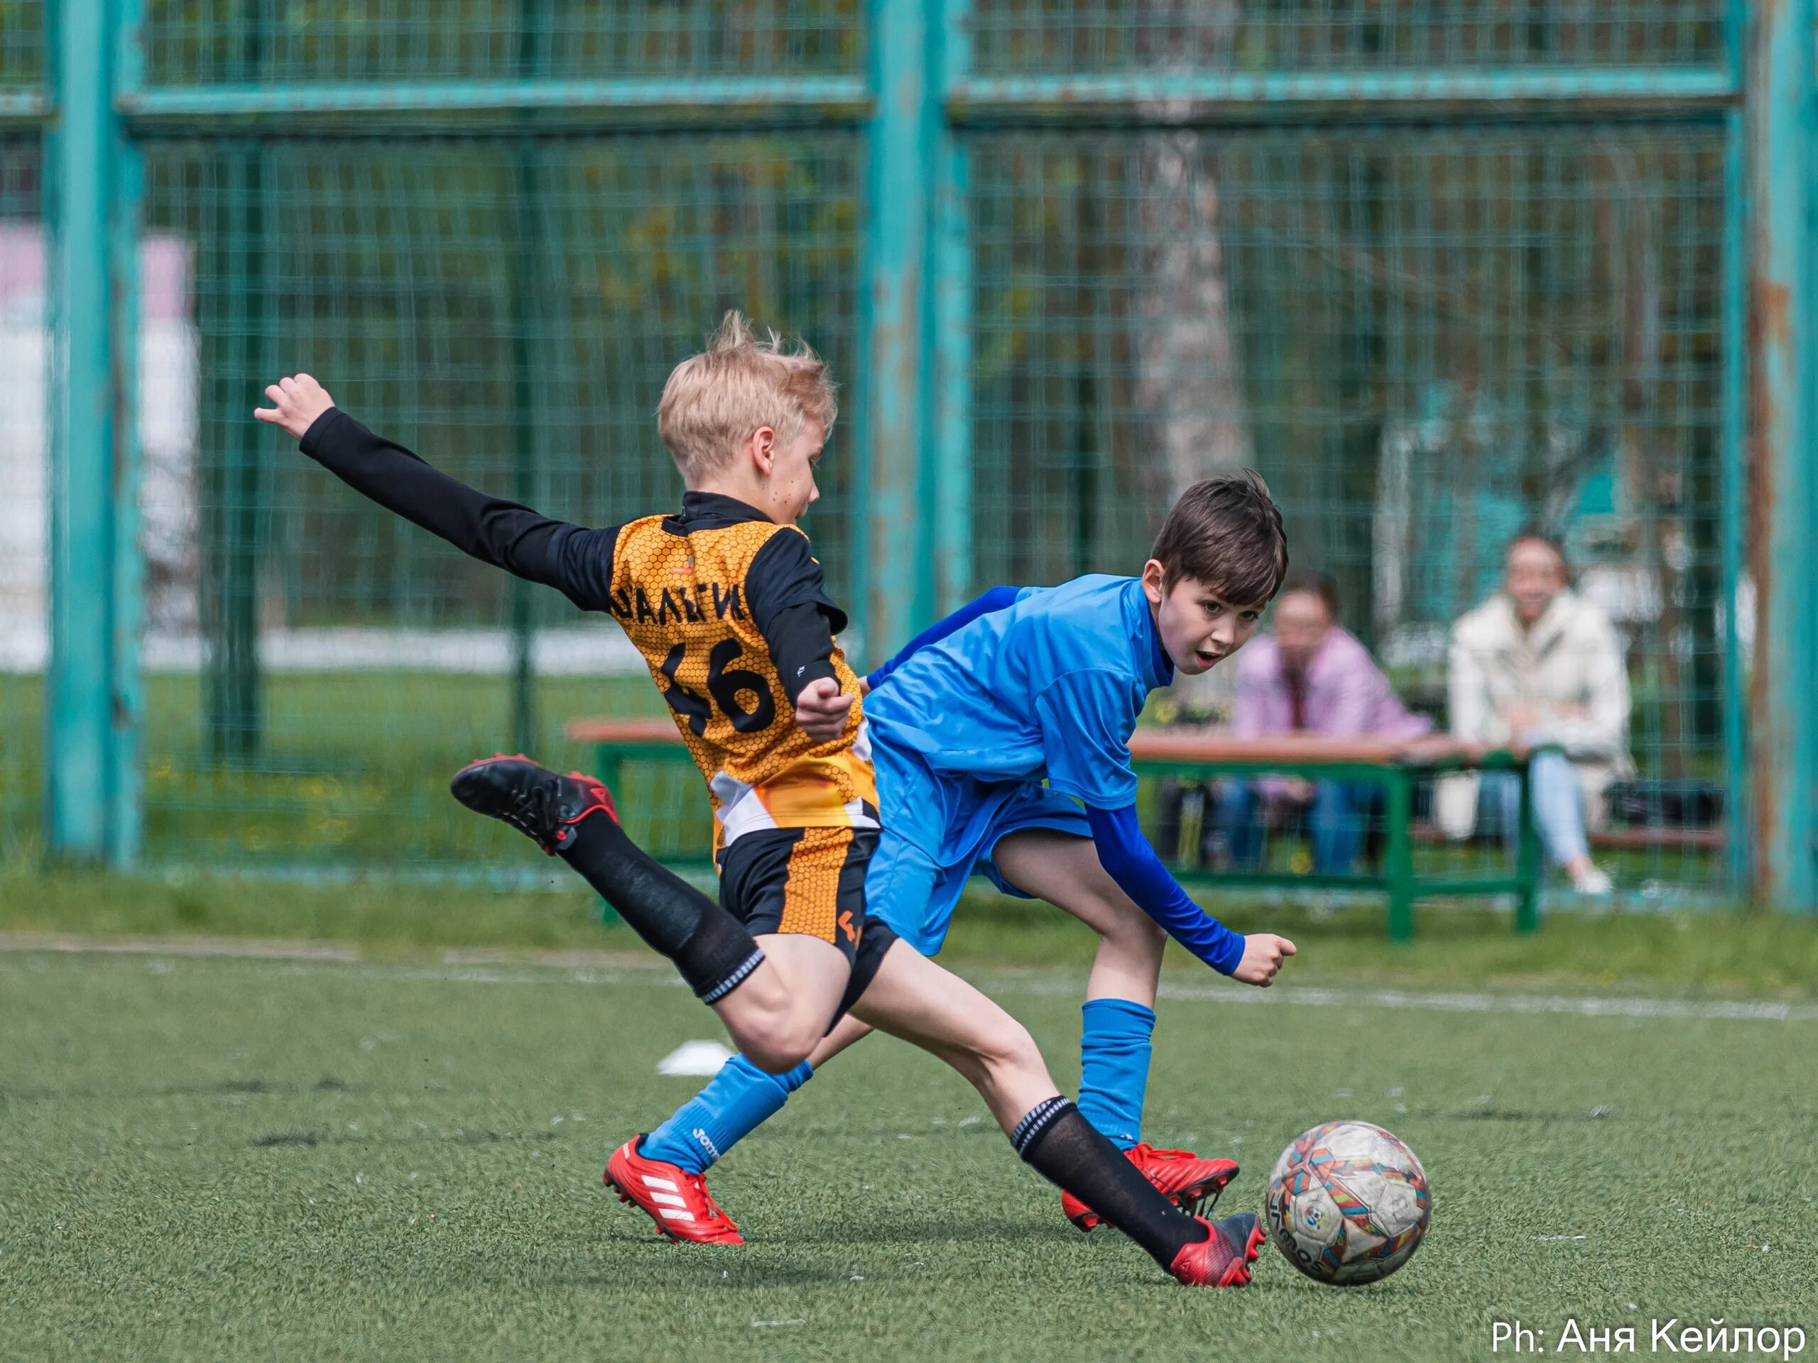
[[[1536,525],[1627,649],[1638,774],[1722,781],[1720,131],[1005,133],[973,187],[974,582],[1133,572],[1254,463],[1443,723],[1449,627]],[[1629,841],[1633,881],[1722,876]]]

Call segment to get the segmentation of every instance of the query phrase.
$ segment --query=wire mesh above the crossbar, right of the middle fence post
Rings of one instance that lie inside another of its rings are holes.
[[[978,0],[987,75],[1702,65],[1722,0]]]

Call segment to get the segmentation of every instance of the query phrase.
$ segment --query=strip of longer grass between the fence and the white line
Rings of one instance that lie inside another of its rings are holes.
[[[44,874],[0,865],[0,932],[24,940],[265,938],[345,943],[364,954],[445,950],[647,949],[624,925],[602,927],[598,900],[556,861],[522,845],[533,889],[411,885],[384,878],[296,883],[264,878]],[[984,881],[973,881],[974,887]],[[1420,989],[1571,989],[1702,998],[1818,998],[1818,923],[1785,914],[1551,914],[1516,936],[1507,910],[1422,907],[1411,943],[1383,938],[1380,901],[1344,905],[1224,898],[1238,930],[1291,936],[1302,954],[1287,981]],[[971,890],[944,960],[978,967],[1080,967],[1096,940],[1058,909]],[[1205,969],[1171,949],[1184,980]]]

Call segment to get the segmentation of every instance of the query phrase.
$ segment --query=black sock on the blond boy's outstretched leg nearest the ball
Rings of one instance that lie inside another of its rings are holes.
[[[1049,1183],[1071,1192],[1134,1239],[1164,1268],[1211,1234],[1142,1176],[1065,1098],[1047,1098],[1011,1132],[1011,1145]]]

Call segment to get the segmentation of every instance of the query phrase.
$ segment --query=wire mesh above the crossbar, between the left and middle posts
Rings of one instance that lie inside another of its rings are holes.
[[[858,0],[151,0],[153,84],[807,76],[860,69]]]

